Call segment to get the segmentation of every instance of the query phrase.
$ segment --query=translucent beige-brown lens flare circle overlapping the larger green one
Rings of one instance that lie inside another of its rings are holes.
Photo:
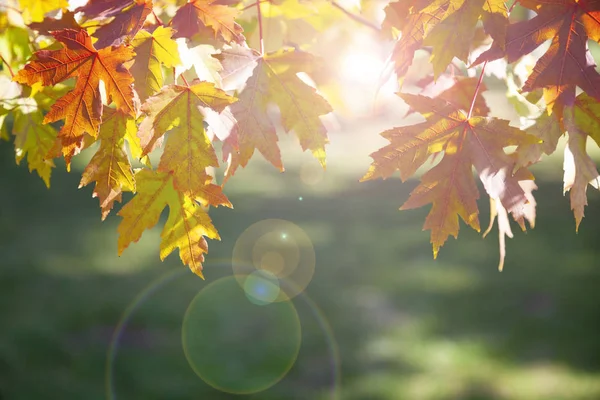
[[[254,287],[247,280],[262,279],[272,285],[273,278],[279,281],[277,297],[271,302],[284,302],[302,293],[314,275],[315,263],[314,247],[306,232],[282,219],[251,225],[238,238],[232,256],[233,274],[245,290]],[[256,299],[253,292],[247,295]]]

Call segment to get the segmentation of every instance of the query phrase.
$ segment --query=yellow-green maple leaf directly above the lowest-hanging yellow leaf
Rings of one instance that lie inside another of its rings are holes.
[[[234,101],[214,84],[194,81],[190,86],[167,86],[142,106],[147,115],[138,133],[142,154],[150,153],[170,131],[158,171],[172,173],[176,190],[191,197],[205,190],[206,168],[219,166],[204,127],[206,115]]]

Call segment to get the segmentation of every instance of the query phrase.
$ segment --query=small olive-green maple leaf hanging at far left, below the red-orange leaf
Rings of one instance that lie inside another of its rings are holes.
[[[56,131],[49,125],[42,124],[42,113],[39,110],[23,112],[18,109],[14,113],[14,125],[12,129],[15,135],[15,150],[17,164],[27,156],[29,172],[37,171],[46,187],[50,187],[50,175],[54,163],[46,159],[46,153],[50,151],[56,139]]]

